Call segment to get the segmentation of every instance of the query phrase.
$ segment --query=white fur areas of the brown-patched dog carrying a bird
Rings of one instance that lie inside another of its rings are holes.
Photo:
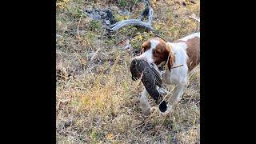
[[[200,38],[200,33],[194,33],[186,36],[185,38],[181,38],[180,40],[182,41],[187,41],[190,38],[195,38],[198,37]],[[141,54],[137,58],[143,58],[147,62],[152,63],[153,62],[153,54],[152,50],[155,49],[155,47],[158,45],[158,40],[151,40],[151,48],[150,50],[146,50],[145,53]],[[166,70],[162,73],[162,81],[166,84],[169,85],[176,85],[174,89],[174,93],[170,100],[168,100],[168,106],[167,106],[167,111],[168,113],[171,108],[178,103],[178,101],[182,98],[182,95],[184,94],[188,82],[188,66],[186,65],[187,61],[187,54],[186,54],[186,42],[178,42],[178,43],[172,43],[172,42],[167,42],[168,45],[170,45],[171,50],[173,50],[175,61],[174,61],[174,66],[180,66],[178,68],[174,68],[171,70]],[[158,68],[156,68],[158,69]],[[142,96],[140,98],[140,103],[141,103],[141,108],[142,112],[144,114],[148,114],[150,110],[150,104],[148,102],[147,97],[147,91],[144,88]]]

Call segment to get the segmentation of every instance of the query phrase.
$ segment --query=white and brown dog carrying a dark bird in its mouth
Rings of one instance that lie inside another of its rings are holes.
[[[168,113],[182,98],[188,83],[188,74],[200,63],[200,33],[190,34],[174,42],[165,42],[161,38],[150,38],[142,44],[141,51],[142,53],[135,58],[144,59],[149,64],[162,66],[168,61],[166,63],[168,69],[162,74],[162,82],[176,85],[173,95],[167,101],[166,112]],[[179,67],[171,69],[173,66]],[[144,88],[140,98],[143,114],[150,112],[147,95],[148,92]]]

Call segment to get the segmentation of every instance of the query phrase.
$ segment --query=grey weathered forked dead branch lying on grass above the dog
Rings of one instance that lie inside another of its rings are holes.
[[[111,31],[119,30],[122,26],[140,26],[146,28],[146,30],[154,30],[151,27],[151,22],[153,18],[153,9],[150,6],[149,0],[144,0],[146,3],[146,8],[142,11],[140,17],[138,19],[127,19],[123,20],[121,22],[114,23],[112,26],[110,26]],[[148,18],[148,22],[143,22],[142,19]]]

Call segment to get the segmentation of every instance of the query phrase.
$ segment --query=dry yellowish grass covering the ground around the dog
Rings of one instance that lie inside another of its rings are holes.
[[[122,28],[107,35],[102,22],[82,14],[86,8],[110,8],[118,20],[138,17],[140,1],[57,1],[57,95],[58,143],[200,143],[200,70],[190,76],[182,101],[167,117],[155,112],[149,117],[138,106],[142,83],[131,80],[132,51],[118,50],[114,43],[137,28]],[[153,0],[153,27],[169,40],[199,30],[188,18],[200,14],[199,1]],[[117,13],[133,8],[132,15]],[[134,39],[134,50],[146,38]],[[90,58],[98,50],[93,61]],[[172,90],[174,86],[170,86]],[[154,102],[152,101],[152,106]]]

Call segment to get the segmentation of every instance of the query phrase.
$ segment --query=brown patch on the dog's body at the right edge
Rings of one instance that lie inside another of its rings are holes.
[[[200,63],[200,38],[195,37],[188,39],[186,45],[188,46],[186,54],[189,57],[186,64],[190,71]]]

